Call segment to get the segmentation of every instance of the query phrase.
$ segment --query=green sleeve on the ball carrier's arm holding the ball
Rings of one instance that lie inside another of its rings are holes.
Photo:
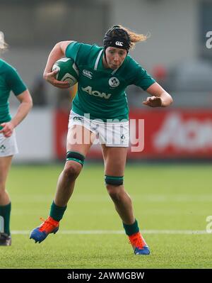
[[[67,46],[65,55],[68,58],[72,58],[78,65],[81,60],[85,60],[88,57],[91,49],[92,45],[90,44],[73,41]]]

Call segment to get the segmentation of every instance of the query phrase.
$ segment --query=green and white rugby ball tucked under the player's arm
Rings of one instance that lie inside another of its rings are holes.
[[[64,57],[57,60],[52,67],[54,70],[58,70],[55,76],[58,81],[69,82],[70,87],[78,82],[78,69],[73,59]]]

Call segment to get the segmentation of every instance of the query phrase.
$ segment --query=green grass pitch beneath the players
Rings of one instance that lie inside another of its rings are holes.
[[[211,268],[211,165],[128,165],[126,191],[134,203],[149,256],[135,256],[104,186],[102,165],[86,165],[59,232],[41,244],[29,232],[46,218],[62,165],[14,165],[11,247],[0,247],[0,268]],[[105,232],[104,232],[105,231]]]

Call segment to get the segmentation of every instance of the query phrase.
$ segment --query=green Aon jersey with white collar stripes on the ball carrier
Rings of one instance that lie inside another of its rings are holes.
[[[128,119],[129,108],[125,89],[135,84],[148,89],[155,80],[129,55],[117,70],[102,64],[103,48],[72,42],[66,48],[66,57],[71,57],[78,67],[78,91],[72,109],[91,119]]]

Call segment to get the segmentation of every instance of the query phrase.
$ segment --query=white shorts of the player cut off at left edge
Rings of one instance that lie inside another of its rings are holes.
[[[16,131],[13,130],[9,138],[5,138],[3,133],[0,133],[0,157],[15,155],[16,153],[18,153]]]

